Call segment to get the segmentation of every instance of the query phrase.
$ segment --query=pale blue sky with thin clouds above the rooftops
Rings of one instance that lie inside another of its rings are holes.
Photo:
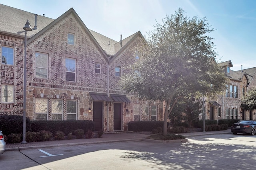
[[[0,0],[0,4],[57,19],[73,8],[88,29],[115,41],[140,31],[144,37],[156,23],[182,8],[186,16],[206,17],[215,31],[218,63],[231,70],[256,67],[256,0]],[[24,18],[24,21],[26,18]]]

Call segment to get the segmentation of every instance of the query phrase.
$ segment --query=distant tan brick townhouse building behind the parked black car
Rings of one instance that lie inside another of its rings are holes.
[[[241,98],[248,90],[256,87],[256,67],[245,70],[233,71],[231,61],[219,63],[226,76],[230,78],[229,84],[222,95],[214,100],[205,102],[206,119],[250,119],[256,120],[255,111],[246,111],[241,108]]]

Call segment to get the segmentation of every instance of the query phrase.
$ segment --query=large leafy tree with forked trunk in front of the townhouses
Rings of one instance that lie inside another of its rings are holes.
[[[141,98],[164,101],[164,135],[167,119],[179,98],[201,92],[213,96],[226,88],[226,76],[218,67],[206,18],[187,18],[178,9],[157,23],[146,42],[138,47],[139,59],[122,76],[127,92]],[[142,41],[143,42],[143,41]]]

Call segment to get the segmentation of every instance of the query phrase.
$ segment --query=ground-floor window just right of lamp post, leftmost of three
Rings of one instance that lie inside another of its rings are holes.
[[[48,120],[48,99],[36,98],[36,120]]]

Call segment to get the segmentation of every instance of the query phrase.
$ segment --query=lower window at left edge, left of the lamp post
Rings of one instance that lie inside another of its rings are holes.
[[[14,103],[14,85],[1,84],[1,102]]]

